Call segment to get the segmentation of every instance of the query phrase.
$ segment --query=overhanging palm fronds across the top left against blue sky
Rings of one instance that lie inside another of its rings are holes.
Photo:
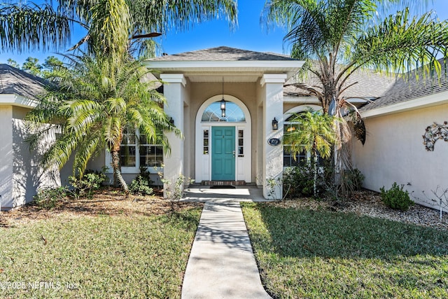
[[[49,2],[51,3],[51,2]],[[87,34],[72,49],[87,43],[87,50],[104,53],[123,51],[131,46],[142,52],[153,47],[143,37],[169,29],[188,29],[197,22],[225,18],[237,25],[236,0],[57,0],[23,4],[0,4],[0,43],[4,50],[64,49],[73,25]]]

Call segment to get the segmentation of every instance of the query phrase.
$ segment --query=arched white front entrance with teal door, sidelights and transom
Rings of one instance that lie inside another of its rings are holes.
[[[251,113],[241,100],[225,95],[226,112],[223,118],[221,99],[222,95],[211,97],[197,110],[194,179],[198,183],[251,183],[254,162]]]

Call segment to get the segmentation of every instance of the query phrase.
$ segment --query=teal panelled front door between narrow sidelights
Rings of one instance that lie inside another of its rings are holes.
[[[235,181],[235,127],[211,127],[211,180]]]

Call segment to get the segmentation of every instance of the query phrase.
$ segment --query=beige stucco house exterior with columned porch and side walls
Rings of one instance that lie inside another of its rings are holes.
[[[274,146],[268,141],[283,137],[283,123],[290,113],[309,107],[320,109],[315,97],[291,93],[288,86],[284,86],[303,62],[271,53],[220,47],[158,57],[145,64],[162,80],[167,99],[165,112],[183,132],[183,138],[167,134],[172,151],[165,155],[163,168],[148,167],[156,184],[162,183],[159,173],[167,179],[165,188],[181,175],[196,183],[210,181],[212,159],[204,153],[202,135],[212,127],[229,126],[235,127],[235,136],[239,131],[244,132],[244,155],[235,158],[235,181],[260,186],[266,198],[282,197],[283,146]],[[367,140],[364,146],[353,141],[352,152],[353,166],[365,175],[365,188],[379,191],[382,186],[390,188],[396,182],[405,186],[415,202],[437,207],[433,190],[439,188],[441,193],[448,188],[448,143],[439,140],[434,151],[426,151],[422,138],[426,127],[448,120],[448,91],[439,85],[435,88],[429,92],[420,91],[419,95],[412,95],[412,99],[407,95],[392,104],[361,110]],[[403,90],[409,90],[407,85]],[[237,104],[246,120],[235,123],[202,121],[204,109],[222,98]],[[358,107],[366,102],[360,98],[350,101]],[[44,141],[35,152],[30,152],[24,142],[27,133],[24,118],[35,104],[27,97],[0,95],[2,209],[31,201],[38,188],[64,184],[71,174],[69,167],[57,171],[42,169],[39,165],[43,148],[55,136]],[[278,120],[278,130],[272,128],[274,118]],[[239,141],[237,137],[235,141]],[[90,160],[87,169],[109,167],[106,173],[109,183],[113,183],[110,162],[109,153],[104,151]],[[135,167],[122,167],[122,174],[130,183],[139,174],[138,163]],[[272,188],[269,180],[276,181],[276,186]]]

